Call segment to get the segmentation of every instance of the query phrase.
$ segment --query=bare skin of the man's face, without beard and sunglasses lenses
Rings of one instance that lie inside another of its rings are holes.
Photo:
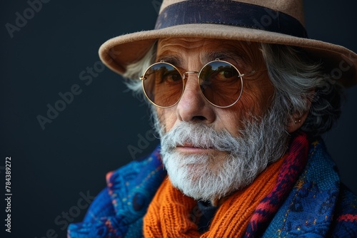
[[[226,129],[238,135],[241,119],[248,113],[261,116],[273,100],[273,86],[268,80],[266,67],[256,43],[239,41],[208,40],[203,38],[168,38],[159,41],[156,61],[173,63],[181,73],[200,71],[217,56],[228,61],[241,73],[260,71],[243,77],[243,94],[230,108],[216,108],[200,93],[196,74],[187,74],[186,87],[181,100],[172,108],[158,109],[165,132],[182,121],[212,125],[215,130]],[[174,60],[173,60],[174,59]],[[196,153],[198,148],[178,148],[184,153]],[[219,152],[218,152],[219,154]]]

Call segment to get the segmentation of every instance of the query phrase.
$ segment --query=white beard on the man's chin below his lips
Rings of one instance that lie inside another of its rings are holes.
[[[239,163],[233,162],[229,155],[217,161],[209,155],[176,152],[163,161],[172,185],[194,200],[218,200],[253,180],[242,176]]]

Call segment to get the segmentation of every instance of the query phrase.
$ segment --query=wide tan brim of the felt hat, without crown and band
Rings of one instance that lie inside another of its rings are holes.
[[[99,48],[101,61],[123,74],[126,66],[139,61],[159,38],[199,37],[299,46],[323,62],[326,73],[349,87],[357,83],[357,54],[343,46],[259,29],[217,24],[186,24],[165,29],[139,31],[111,38]]]

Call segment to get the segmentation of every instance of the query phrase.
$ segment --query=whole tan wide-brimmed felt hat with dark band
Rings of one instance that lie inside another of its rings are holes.
[[[357,83],[357,54],[308,38],[302,0],[164,0],[154,30],[109,39],[101,61],[116,73],[139,61],[159,38],[199,37],[298,46],[343,86]]]

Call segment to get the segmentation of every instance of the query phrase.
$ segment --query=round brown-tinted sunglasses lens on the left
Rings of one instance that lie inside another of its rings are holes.
[[[152,103],[171,107],[180,100],[183,81],[180,73],[169,63],[154,63],[144,74],[144,90]]]

